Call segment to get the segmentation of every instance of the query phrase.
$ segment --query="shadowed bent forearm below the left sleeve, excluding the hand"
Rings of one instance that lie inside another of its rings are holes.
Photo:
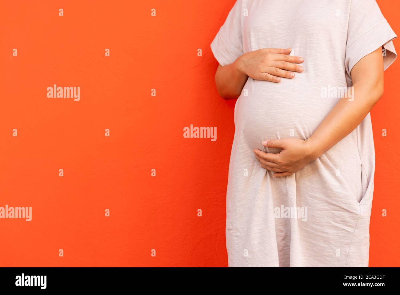
[[[240,60],[225,66],[218,66],[215,73],[215,84],[218,93],[224,99],[236,99],[242,93],[248,76],[240,70]]]

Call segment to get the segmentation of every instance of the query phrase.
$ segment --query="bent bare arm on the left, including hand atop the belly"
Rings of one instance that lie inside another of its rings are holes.
[[[294,63],[302,63],[301,57],[288,55],[291,49],[263,48],[245,53],[229,65],[218,65],[215,84],[224,99],[236,99],[248,77],[256,80],[278,83],[279,77],[293,78],[294,72],[303,68]]]

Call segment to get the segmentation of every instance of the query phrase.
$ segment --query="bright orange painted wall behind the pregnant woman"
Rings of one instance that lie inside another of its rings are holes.
[[[0,266],[227,266],[234,101],[216,92],[209,45],[234,0],[123,2],[1,4],[0,206],[31,206],[32,221],[0,220]],[[378,3],[400,34],[400,3]],[[400,266],[399,72],[372,112],[374,267]],[[80,101],[47,98],[53,84]],[[185,139],[190,124],[217,141]]]

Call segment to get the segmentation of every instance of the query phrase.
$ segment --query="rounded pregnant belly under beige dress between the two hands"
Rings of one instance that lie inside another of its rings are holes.
[[[307,139],[337,103],[321,87],[282,79],[280,83],[248,79],[235,106],[235,127],[250,148],[265,139]]]

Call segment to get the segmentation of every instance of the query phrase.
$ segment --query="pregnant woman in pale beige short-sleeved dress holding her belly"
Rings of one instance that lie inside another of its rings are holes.
[[[236,1],[211,44],[218,92],[238,98],[230,267],[368,267],[369,112],[394,38],[375,0]]]

